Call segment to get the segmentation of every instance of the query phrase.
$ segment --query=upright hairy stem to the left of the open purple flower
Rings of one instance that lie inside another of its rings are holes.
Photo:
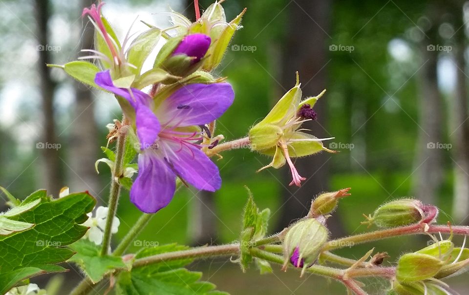
[[[123,120],[125,122],[126,119]],[[101,248],[101,255],[106,255],[111,242],[111,229],[114,216],[116,215],[117,204],[119,202],[119,195],[121,193],[121,185],[119,184],[119,177],[122,175],[122,163],[124,160],[125,146],[126,146],[126,135],[127,132],[121,132],[125,130],[125,126],[121,127],[119,136],[117,137],[116,143],[116,160],[114,163],[114,171],[111,176],[111,189],[109,191],[109,204],[106,217],[106,227],[103,236],[103,246]]]

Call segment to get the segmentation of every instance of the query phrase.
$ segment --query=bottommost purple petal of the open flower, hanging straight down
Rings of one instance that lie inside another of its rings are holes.
[[[165,208],[176,190],[176,175],[153,151],[138,156],[138,176],[130,190],[130,201],[140,211],[155,213]]]

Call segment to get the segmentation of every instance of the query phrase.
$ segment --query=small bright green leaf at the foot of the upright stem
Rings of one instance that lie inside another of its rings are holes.
[[[78,240],[70,248],[76,254],[68,261],[78,264],[93,283],[99,282],[105,274],[115,269],[126,267],[122,257],[101,256],[101,248],[89,240]]]

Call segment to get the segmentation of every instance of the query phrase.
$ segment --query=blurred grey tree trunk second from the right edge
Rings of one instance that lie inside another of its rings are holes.
[[[427,46],[441,44],[438,27],[441,23],[441,7],[437,1],[429,2],[427,17],[430,22],[426,35],[420,43],[420,55],[425,63],[420,74],[419,140],[415,157],[414,195],[426,204],[435,204],[437,193],[443,180],[442,149],[444,104],[438,89],[437,65],[438,50],[428,50]]]

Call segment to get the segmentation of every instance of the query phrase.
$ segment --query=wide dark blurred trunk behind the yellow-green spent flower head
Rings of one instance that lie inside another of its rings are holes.
[[[287,7],[287,37],[282,44],[282,77],[283,88],[290,89],[295,85],[295,72],[299,78],[303,94],[317,95],[326,88],[327,80],[327,43],[329,36],[330,0],[297,0]],[[314,20],[314,21],[313,21]],[[327,94],[326,94],[327,95]],[[326,131],[327,105],[320,100],[315,105],[318,122],[304,124],[317,137],[328,137]],[[308,122],[310,123],[310,122]],[[306,177],[301,188],[286,187],[291,181],[289,169],[282,170],[282,207],[277,230],[282,230],[294,219],[305,216],[313,199],[318,193],[329,190],[328,161],[333,156],[328,153],[312,155],[296,161],[295,166],[301,176]],[[341,234],[341,223],[338,214],[328,219],[333,235]]]

